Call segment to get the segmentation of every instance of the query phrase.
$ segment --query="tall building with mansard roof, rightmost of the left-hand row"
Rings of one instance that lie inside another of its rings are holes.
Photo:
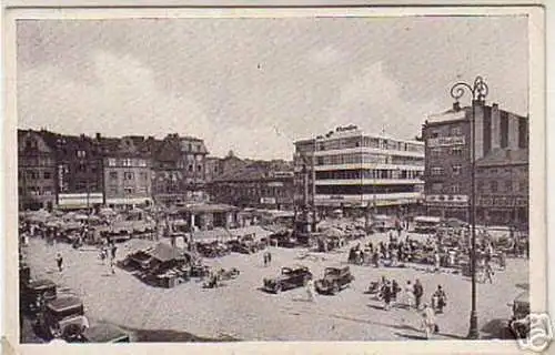
[[[205,201],[204,141],[169,134],[151,150],[152,194],[155,202],[179,205]]]

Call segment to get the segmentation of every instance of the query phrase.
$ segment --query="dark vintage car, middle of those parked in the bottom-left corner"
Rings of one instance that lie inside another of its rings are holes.
[[[63,296],[48,302],[37,317],[36,329],[47,338],[59,338],[83,329],[89,324],[83,303],[75,296]]]

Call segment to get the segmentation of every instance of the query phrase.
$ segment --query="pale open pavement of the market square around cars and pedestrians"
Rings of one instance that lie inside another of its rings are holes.
[[[384,234],[367,240],[384,239]],[[362,241],[364,242],[364,241]],[[131,251],[151,245],[145,240],[120,244],[119,260]],[[355,242],[356,243],[356,242]],[[471,283],[467,277],[447,272],[434,274],[424,265],[405,268],[355,266],[356,277],[351,287],[335,296],[317,295],[314,303],[306,301],[304,288],[281,294],[260,290],[262,278],[276,275],[281,266],[304,264],[320,277],[325,266],[344,264],[347,247],[330,253],[306,253],[302,248],[270,247],[272,265],[264,267],[262,253],[231,254],[208,264],[224,268],[238,267],[241,275],[214,290],[202,288],[196,280],[174,288],[155,288],[143,284],[130,273],[117,268],[111,275],[98,258],[93,247],[77,251],[59,243],[47,245],[33,239],[26,247],[34,277],[51,278],[62,292],[70,291],[84,301],[85,312],[93,321],[104,321],[135,329],[167,329],[190,332],[196,336],[218,338],[231,336],[245,341],[398,341],[422,338],[420,315],[414,311],[393,308],[383,311],[381,303],[365,294],[370,282],[382,275],[395,278],[400,285],[420,278],[425,300],[438,284],[443,285],[448,305],[438,315],[438,339],[463,338],[468,329]],[[56,253],[61,252],[64,270],[56,268]],[[528,263],[508,258],[505,271],[495,273],[493,284],[478,284],[478,325],[483,337],[495,337],[498,322],[511,315],[507,303],[528,283]],[[400,295],[403,300],[403,295]]]

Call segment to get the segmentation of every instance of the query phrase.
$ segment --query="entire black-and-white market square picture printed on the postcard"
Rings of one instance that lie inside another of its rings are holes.
[[[547,346],[529,12],[271,13],[14,20],[16,342]]]

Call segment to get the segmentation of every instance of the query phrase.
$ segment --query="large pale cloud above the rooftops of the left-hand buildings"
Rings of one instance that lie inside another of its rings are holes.
[[[210,120],[194,95],[161,90],[154,72],[137,59],[95,52],[92,62],[92,81],[73,80],[52,65],[22,70],[20,124],[71,133],[163,136],[171,130],[211,136]]]

